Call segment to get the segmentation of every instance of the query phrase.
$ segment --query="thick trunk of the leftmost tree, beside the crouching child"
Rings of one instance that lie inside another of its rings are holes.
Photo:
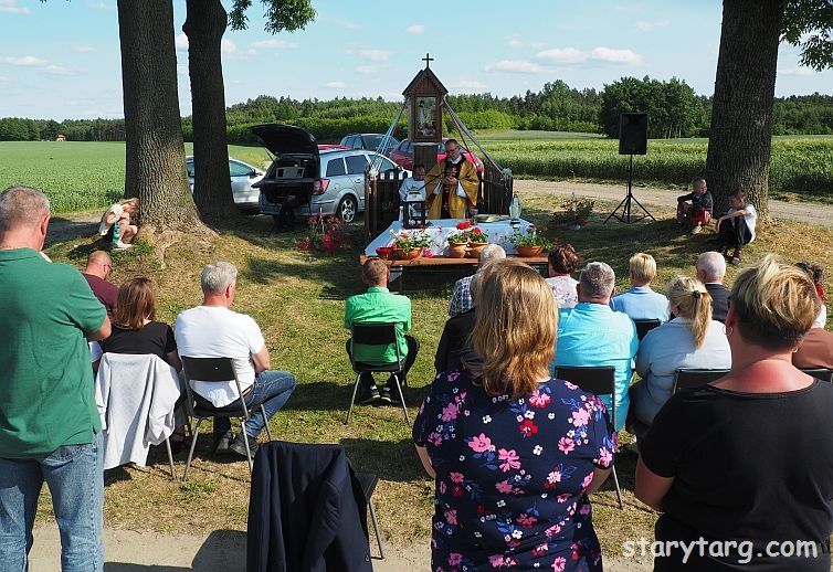
[[[118,0],[125,102],[125,197],[151,232],[201,226],[188,189],[170,0]]]

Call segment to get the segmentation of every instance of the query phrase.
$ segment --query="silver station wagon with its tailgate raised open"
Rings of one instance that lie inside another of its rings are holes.
[[[295,215],[335,214],[352,222],[365,210],[368,165],[376,160],[379,172],[404,170],[373,151],[319,150],[312,134],[299,127],[268,124],[252,131],[275,155],[266,174],[252,186],[261,190],[260,212],[275,218],[286,208]]]

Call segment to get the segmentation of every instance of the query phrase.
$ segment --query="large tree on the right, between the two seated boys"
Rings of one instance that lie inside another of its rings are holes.
[[[831,0],[724,0],[706,178],[723,211],[742,190],[768,214],[778,44],[802,47],[802,64],[833,66]]]

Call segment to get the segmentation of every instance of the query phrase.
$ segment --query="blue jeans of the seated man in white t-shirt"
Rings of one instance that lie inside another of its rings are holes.
[[[254,378],[254,385],[243,399],[249,407],[251,419],[245,423],[244,428],[250,439],[256,439],[263,427],[266,426],[281,407],[297,388],[295,375],[288,371],[262,371]],[[200,400],[200,396],[197,396]],[[266,410],[266,419],[261,413],[261,404]],[[240,400],[224,407],[218,407],[218,411],[240,409]],[[214,417],[214,435],[220,436],[231,428],[229,417]]]

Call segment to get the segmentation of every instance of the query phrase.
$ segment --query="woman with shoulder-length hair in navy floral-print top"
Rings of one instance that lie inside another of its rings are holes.
[[[482,363],[439,374],[413,426],[436,485],[431,570],[600,571],[588,495],[613,463],[604,405],[550,379],[558,309],[538,273],[513,259],[481,273]]]

